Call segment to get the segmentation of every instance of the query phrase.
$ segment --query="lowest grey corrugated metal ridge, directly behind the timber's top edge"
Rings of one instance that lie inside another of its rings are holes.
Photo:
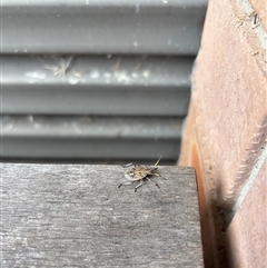
[[[181,126],[172,118],[2,117],[4,159],[172,160]]]

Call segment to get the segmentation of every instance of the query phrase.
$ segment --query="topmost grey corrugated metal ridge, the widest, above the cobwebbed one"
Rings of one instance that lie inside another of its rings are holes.
[[[2,0],[3,53],[196,54],[207,0]]]

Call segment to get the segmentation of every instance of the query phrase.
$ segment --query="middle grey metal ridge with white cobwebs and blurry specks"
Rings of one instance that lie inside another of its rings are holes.
[[[192,57],[2,56],[1,112],[185,116]]]

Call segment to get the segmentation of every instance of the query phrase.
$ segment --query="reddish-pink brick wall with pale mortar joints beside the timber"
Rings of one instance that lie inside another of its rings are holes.
[[[179,165],[197,170],[207,267],[267,264],[267,34],[251,2],[209,1],[192,75]]]

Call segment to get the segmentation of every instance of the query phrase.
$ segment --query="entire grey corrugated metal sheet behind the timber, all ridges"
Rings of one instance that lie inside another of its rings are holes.
[[[206,1],[2,1],[2,160],[179,153]]]

